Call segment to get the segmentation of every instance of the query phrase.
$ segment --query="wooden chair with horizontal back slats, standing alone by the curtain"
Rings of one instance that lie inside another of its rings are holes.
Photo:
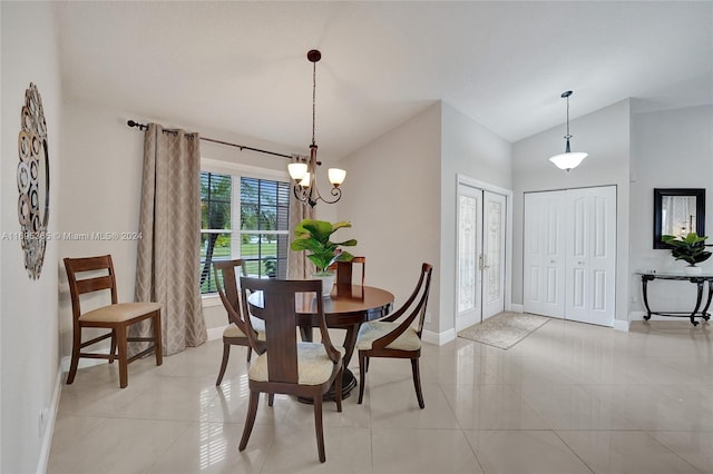
[[[106,358],[109,364],[119,361],[119,387],[128,385],[128,364],[155,352],[156,365],[163,364],[160,339],[160,305],[158,303],[118,303],[116,276],[110,255],[85,258],[65,258],[65,269],[69,282],[72,313],[71,363],[67,384],[75,382],[80,357]],[[91,273],[79,278],[78,274]],[[82,313],[80,296],[89,293],[109,290],[111,304]],[[153,337],[128,337],[128,327],[150,319],[154,326]],[[82,329],[87,327],[110,329],[101,336],[82,340]],[[86,353],[82,349],[104,339],[111,338],[109,354]],[[153,343],[138,354],[128,356],[128,343]]]

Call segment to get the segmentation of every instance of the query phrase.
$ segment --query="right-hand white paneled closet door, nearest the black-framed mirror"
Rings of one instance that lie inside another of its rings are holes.
[[[567,190],[567,319],[612,326],[616,273],[616,188]]]

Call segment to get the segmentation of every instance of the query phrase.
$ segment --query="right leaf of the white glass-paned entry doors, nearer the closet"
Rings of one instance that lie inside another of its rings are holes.
[[[482,196],[482,319],[505,309],[506,198],[490,191]]]

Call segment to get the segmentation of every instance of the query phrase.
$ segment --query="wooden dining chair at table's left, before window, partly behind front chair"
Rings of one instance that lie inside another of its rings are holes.
[[[242,258],[235,260],[222,260],[213,263],[213,271],[215,274],[215,285],[217,287],[218,296],[223,306],[227,313],[228,325],[223,329],[223,359],[221,362],[221,371],[218,372],[218,378],[215,381],[215,385],[221,385],[225,369],[227,368],[227,361],[231,356],[231,346],[244,346],[247,348],[247,362],[250,362],[253,349],[250,346],[247,339],[246,328],[243,317],[243,308],[240,304],[240,290],[237,289],[236,270],[240,269],[241,276],[246,276],[245,260]],[[221,284],[221,280],[223,282]],[[264,339],[265,332],[264,326],[260,322],[254,322],[254,326],[257,330],[257,337]]]

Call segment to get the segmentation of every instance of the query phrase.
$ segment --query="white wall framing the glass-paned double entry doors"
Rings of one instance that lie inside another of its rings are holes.
[[[456,327],[457,175],[512,189],[512,146],[448,103],[442,106],[441,306],[439,332]],[[509,282],[506,282],[509,285]]]

